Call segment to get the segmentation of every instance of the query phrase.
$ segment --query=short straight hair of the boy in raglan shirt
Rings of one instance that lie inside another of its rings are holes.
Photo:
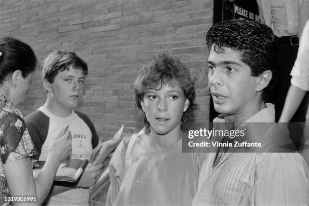
[[[88,74],[87,63],[73,51],[54,51],[48,54],[42,70],[43,80],[53,83],[59,72],[69,70],[70,67],[82,70],[84,75]]]

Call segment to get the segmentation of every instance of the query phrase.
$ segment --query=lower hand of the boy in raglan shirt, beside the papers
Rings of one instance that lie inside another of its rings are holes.
[[[92,165],[88,164],[83,172],[77,187],[87,188],[95,184],[103,171],[103,164]]]

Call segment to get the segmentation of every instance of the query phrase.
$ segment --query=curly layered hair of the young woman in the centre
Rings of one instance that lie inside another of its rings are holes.
[[[135,101],[137,107],[141,109],[145,93],[149,89],[161,89],[163,85],[177,86],[183,90],[185,98],[189,100],[188,109],[183,112],[181,118],[181,128],[183,123],[193,121],[193,109],[195,89],[194,81],[191,79],[187,67],[168,54],[162,53],[153,57],[148,64],[143,66],[134,82]],[[150,132],[150,124],[144,115],[146,133]]]

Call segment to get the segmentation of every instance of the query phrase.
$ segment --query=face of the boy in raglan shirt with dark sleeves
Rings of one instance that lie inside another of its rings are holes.
[[[80,69],[70,67],[58,73],[52,83],[53,104],[58,108],[72,110],[77,107],[84,91],[85,75]]]

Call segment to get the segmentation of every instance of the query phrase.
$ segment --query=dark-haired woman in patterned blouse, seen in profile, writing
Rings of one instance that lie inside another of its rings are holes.
[[[62,129],[42,171],[37,178],[33,178],[31,158],[36,155],[36,151],[23,115],[16,106],[29,91],[36,63],[36,56],[29,45],[12,37],[0,39],[1,205],[25,203],[11,201],[23,195],[33,197],[32,202],[27,203],[40,205],[53,184],[60,162],[72,150],[70,131]]]

